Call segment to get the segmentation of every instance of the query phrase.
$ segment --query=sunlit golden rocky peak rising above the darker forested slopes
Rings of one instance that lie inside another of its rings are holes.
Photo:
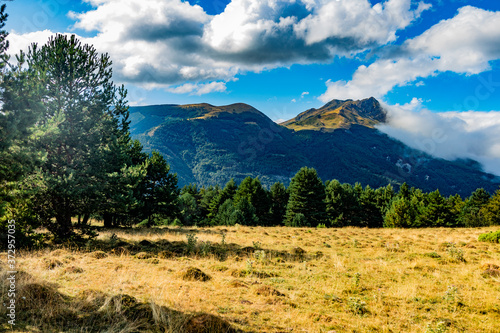
[[[386,112],[373,97],[354,101],[334,99],[319,109],[309,109],[281,125],[300,130],[335,130],[361,125],[373,128],[386,120]]]

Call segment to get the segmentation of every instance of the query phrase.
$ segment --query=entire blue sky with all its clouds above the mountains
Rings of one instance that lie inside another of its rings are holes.
[[[373,96],[390,112],[382,130],[500,174],[498,0],[15,0],[7,12],[12,54],[76,34],[110,54],[131,105],[245,102],[279,121]]]

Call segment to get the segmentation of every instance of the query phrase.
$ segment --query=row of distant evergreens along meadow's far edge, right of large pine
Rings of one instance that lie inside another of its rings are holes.
[[[288,188],[278,182],[266,190],[251,177],[239,186],[230,180],[222,189],[185,186],[178,209],[170,219],[183,225],[480,227],[500,224],[500,190],[493,196],[477,189],[465,200],[445,198],[439,190],[424,193],[406,183],[397,192],[392,185],[372,189],[337,180],[323,183],[316,170],[304,167]]]

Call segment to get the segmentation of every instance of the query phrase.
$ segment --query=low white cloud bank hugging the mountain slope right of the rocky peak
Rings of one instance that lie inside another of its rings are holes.
[[[383,105],[386,124],[378,129],[430,155],[470,158],[485,171],[500,175],[500,111],[434,113],[418,99],[405,105]]]

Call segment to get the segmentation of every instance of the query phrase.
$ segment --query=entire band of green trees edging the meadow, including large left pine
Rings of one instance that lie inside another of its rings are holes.
[[[0,8],[0,29],[7,14]],[[16,221],[17,239],[55,241],[95,235],[106,227],[177,224],[310,227],[470,227],[499,224],[500,191],[463,200],[403,184],[372,189],[323,183],[304,167],[290,185],[269,189],[258,178],[223,188],[179,189],[159,152],[130,137],[127,91],[112,81],[107,54],[75,36],[56,35],[6,55],[0,31],[0,229]],[[2,232],[2,234],[5,234]]]

